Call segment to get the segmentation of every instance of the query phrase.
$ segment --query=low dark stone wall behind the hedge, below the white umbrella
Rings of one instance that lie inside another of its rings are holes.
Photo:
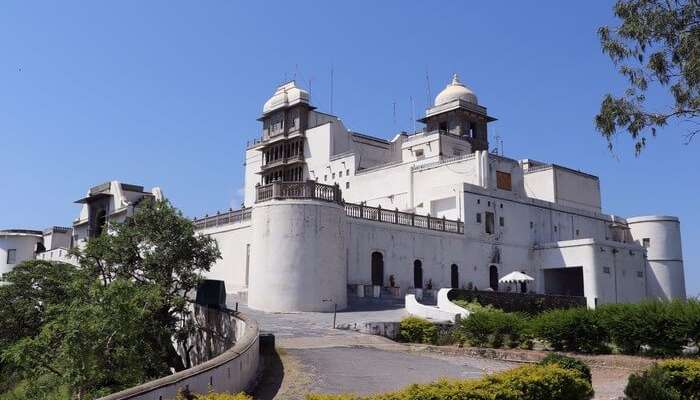
[[[452,289],[447,294],[447,297],[451,301],[477,301],[481,305],[492,305],[506,312],[524,312],[527,314],[538,314],[556,308],[586,307],[585,297],[553,296],[536,293]]]

